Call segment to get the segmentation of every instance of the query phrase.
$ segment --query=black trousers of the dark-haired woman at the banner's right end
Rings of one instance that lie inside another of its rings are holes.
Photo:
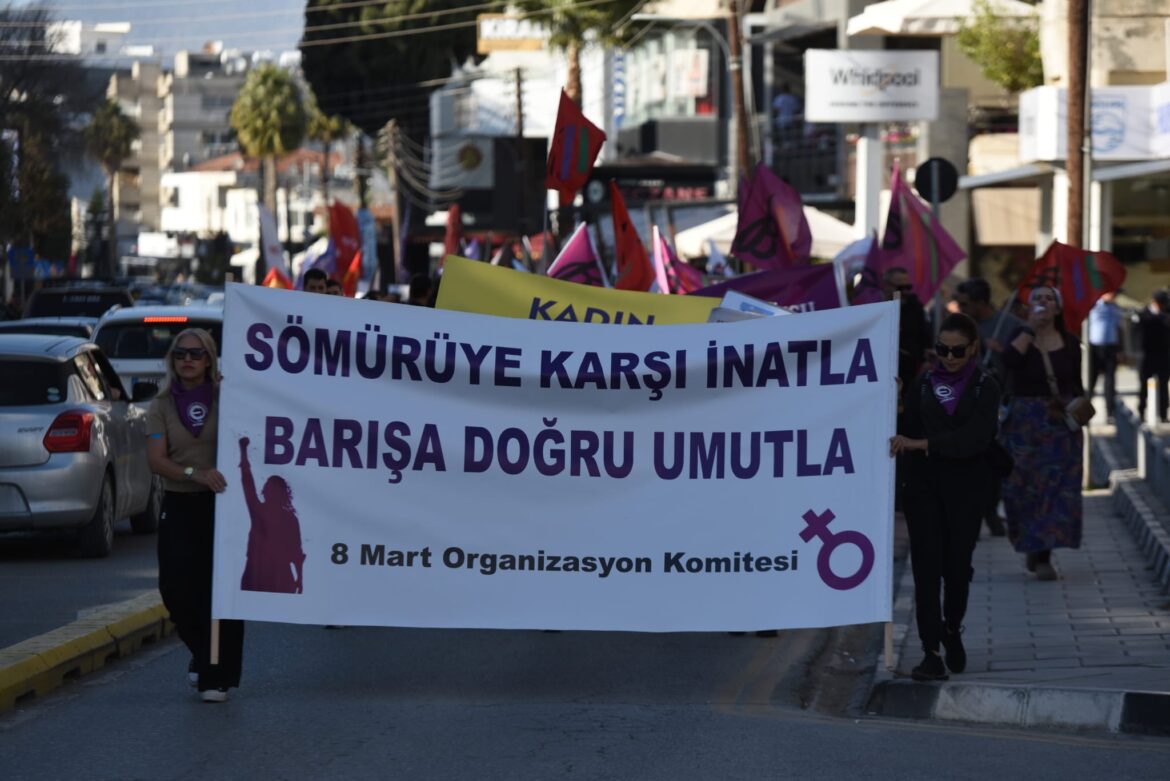
[[[950,472],[910,481],[902,498],[918,637],[925,651],[937,651],[943,626],[958,631],[966,615],[975,574],[971,555],[986,505],[984,469]]]

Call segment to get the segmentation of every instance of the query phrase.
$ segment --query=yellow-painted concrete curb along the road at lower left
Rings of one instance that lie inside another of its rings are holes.
[[[173,629],[158,594],[143,594],[0,649],[0,712],[126,657]]]

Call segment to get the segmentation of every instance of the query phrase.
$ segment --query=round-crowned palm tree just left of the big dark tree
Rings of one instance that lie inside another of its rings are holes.
[[[263,161],[263,202],[276,214],[276,157],[301,146],[309,122],[292,76],[273,63],[256,65],[232,104],[230,122],[243,153]]]

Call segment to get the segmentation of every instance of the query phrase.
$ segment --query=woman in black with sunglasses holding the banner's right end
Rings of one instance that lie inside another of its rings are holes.
[[[991,479],[986,451],[999,415],[999,386],[980,368],[978,352],[975,320],[948,315],[938,330],[937,359],[903,390],[903,430],[889,442],[892,456],[906,454],[902,510],[925,652],[911,671],[915,680],[944,680],[948,670],[966,669],[961,633]]]

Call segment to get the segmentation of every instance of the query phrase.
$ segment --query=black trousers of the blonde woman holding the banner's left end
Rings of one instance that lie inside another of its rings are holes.
[[[243,622],[225,620],[219,664],[211,663],[214,539],[215,495],[167,491],[158,527],[158,590],[195,659],[199,691],[239,686],[243,662]]]

